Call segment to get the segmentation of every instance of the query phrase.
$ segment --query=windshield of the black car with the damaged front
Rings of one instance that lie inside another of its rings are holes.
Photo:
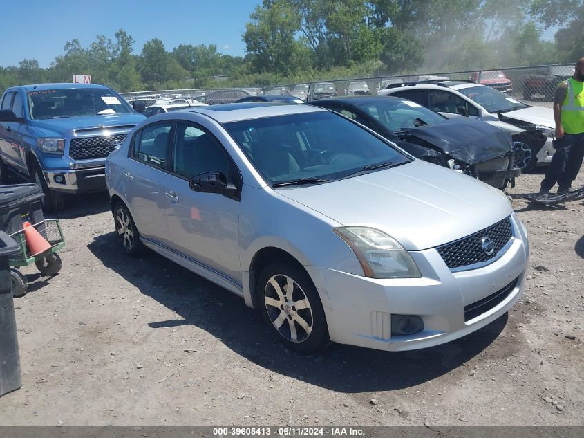
[[[358,107],[394,133],[403,131],[404,128],[436,125],[447,120],[446,117],[411,100],[375,98],[375,102],[364,102]]]

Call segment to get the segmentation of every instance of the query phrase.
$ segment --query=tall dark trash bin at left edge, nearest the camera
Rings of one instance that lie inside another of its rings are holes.
[[[22,386],[15,304],[8,266],[10,256],[19,251],[14,239],[0,231],[0,396]]]

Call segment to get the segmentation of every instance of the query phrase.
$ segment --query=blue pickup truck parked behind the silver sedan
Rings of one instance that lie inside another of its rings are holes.
[[[4,91],[0,106],[0,183],[17,175],[41,185],[45,209],[64,194],[106,190],[106,157],[144,120],[113,89],[37,84]]]

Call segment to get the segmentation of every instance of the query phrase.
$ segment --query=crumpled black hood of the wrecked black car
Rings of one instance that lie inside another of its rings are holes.
[[[452,118],[437,125],[407,129],[404,140],[420,138],[467,164],[488,161],[512,149],[509,133],[485,122]],[[415,140],[414,140],[415,142]]]

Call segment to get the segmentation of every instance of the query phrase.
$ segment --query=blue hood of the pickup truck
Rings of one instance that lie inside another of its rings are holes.
[[[41,131],[65,134],[66,131],[70,131],[71,129],[138,125],[144,118],[145,116],[138,113],[114,114],[112,116],[64,117],[33,120],[31,125],[41,129]]]

